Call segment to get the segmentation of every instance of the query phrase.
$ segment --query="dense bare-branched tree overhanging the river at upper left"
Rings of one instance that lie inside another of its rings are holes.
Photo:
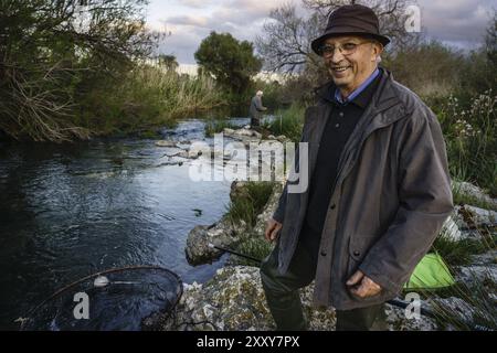
[[[63,141],[95,87],[123,77],[152,50],[146,0],[2,0],[0,129],[14,138]]]

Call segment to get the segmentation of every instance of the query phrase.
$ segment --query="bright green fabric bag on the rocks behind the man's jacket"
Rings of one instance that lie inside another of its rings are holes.
[[[434,289],[455,284],[443,258],[436,253],[426,254],[415,267],[404,289]]]

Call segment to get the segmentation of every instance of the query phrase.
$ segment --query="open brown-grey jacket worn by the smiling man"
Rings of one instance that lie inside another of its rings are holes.
[[[382,71],[341,152],[317,255],[315,302],[339,310],[395,297],[453,210],[445,143],[435,115]],[[329,92],[327,86],[318,95]],[[309,180],[330,109],[321,97],[306,110],[302,141],[309,143]],[[298,159],[297,148],[297,171]],[[285,185],[273,215],[283,223],[281,272],[294,254],[307,203],[308,188],[287,193]],[[357,299],[349,293],[345,282],[357,269],[382,287],[378,296]]]

